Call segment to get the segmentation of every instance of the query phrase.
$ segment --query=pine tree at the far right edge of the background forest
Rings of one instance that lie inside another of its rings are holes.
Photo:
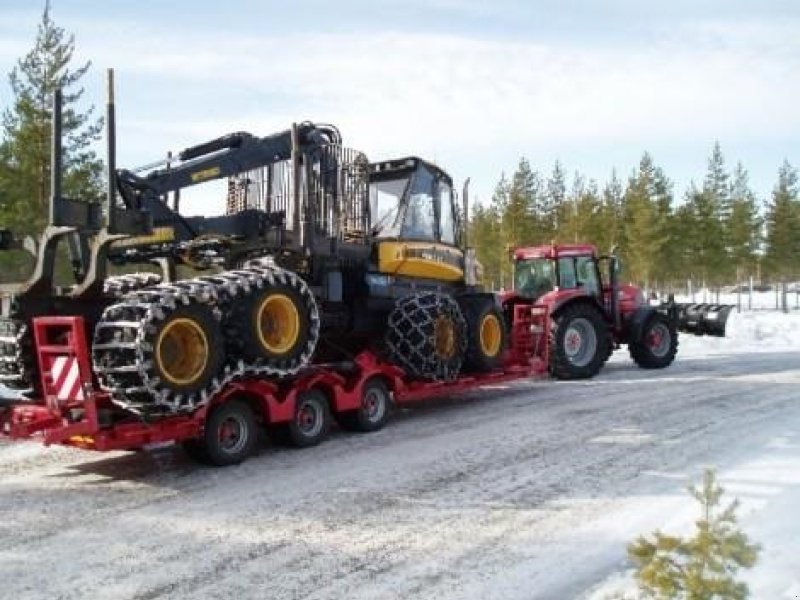
[[[766,221],[768,273],[779,278],[795,276],[800,272],[800,188],[797,170],[789,161],[778,171]]]

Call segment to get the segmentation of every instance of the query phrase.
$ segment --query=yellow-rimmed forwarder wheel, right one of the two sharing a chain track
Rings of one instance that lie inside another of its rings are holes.
[[[311,358],[319,339],[318,323],[317,305],[306,283],[280,270],[272,284],[234,305],[226,330],[246,360],[291,372]]]

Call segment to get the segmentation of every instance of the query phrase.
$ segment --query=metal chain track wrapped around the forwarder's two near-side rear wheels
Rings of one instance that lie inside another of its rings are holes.
[[[246,362],[237,357],[236,338],[240,313],[235,307],[250,293],[268,285],[296,287],[306,300],[309,332],[306,347],[295,359],[279,365],[265,361]],[[157,329],[178,306],[206,305],[221,322],[226,347],[233,349],[222,372],[203,390],[173,393],[162,385],[154,371],[154,348],[147,336]],[[227,383],[244,376],[286,377],[297,373],[311,360],[320,332],[320,318],[314,296],[295,273],[274,266],[269,260],[250,261],[244,268],[217,275],[161,284],[136,291],[106,308],[95,329],[92,362],[101,387],[112,400],[134,411],[162,410],[190,412],[208,402]]]

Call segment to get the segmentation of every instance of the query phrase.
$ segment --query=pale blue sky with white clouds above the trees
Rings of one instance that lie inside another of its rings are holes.
[[[41,6],[2,6],[7,73]],[[100,110],[116,71],[121,166],[307,119],[372,160],[435,160],[482,200],[522,156],[602,184],[647,150],[678,199],[715,140],[762,197],[784,159],[800,164],[796,2],[53,0],[53,17],[93,61],[83,83]],[[214,193],[190,209],[221,210]]]

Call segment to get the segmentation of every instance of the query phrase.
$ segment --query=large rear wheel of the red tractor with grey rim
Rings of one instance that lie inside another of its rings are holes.
[[[567,306],[550,330],[550,372],[558,379],[594,377],[608,355],[608,326],[586,303]]]

